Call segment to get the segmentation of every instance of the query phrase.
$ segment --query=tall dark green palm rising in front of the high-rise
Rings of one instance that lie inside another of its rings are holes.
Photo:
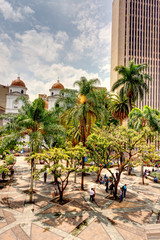
[[[115,71],[121,76],[113,86],[112,91],[115,91],[119,87],[122,87],[120,94],[126,94],[128,98],[129,112],[132,110],[132,103],[138,99],[143,99],[144,92],[148,91],[148,85],[146,80],[151,80],[151,77],[145,73],[147,69],[147,64],[135,64],[134,61],[129,62],[129,66],[117,66]]]

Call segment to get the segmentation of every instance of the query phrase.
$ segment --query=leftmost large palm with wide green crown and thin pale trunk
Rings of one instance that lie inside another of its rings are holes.
[[[18,139],[25,139],[29,137],[29,145],[31,152],[36,153],[43,148],[57,144],[57,137],[55,143],[55,136],[65,136],[65,131],[62,126],[58,125],[58,119],[55,117],[54,111],[47,111],[45,109],[45,102],[43,99],[35,99],[32,103],[26,98],[21,98],[24,105],[19,110],[19,113],[10,116],[8,122],[3,127],[2,131],[10,137],[16,135],[17,144]],[[7,116],[6,116],[7,117]],[[31,186],[30,186],[30,202],[33,199],[33,174],[34,174],[34,159],[31,161]]]

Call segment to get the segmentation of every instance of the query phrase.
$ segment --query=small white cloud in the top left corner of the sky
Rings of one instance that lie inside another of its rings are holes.
[[[0,0],[0,12],[5,20],[13,20],[15,22],[19,22],[24,19],[25,15],[27,14],[34,13],[29,6],[24,6],[23,8],[17,7],[14,9],[6,0]]]

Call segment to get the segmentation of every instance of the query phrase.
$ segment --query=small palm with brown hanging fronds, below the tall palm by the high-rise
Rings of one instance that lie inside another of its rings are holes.
[[[113,96],[111,111],[113,117],[117,120],[120,120],[120,125],[122,125],[123,120],[127,118],[129,114],[128,98],[125,94],[122,96],[118,94]]]

